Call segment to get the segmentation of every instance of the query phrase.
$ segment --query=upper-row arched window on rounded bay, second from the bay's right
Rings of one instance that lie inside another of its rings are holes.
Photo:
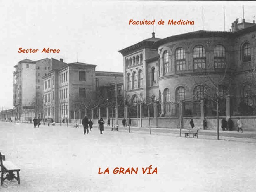
[[[197,45],[193,49],[193,66],[194,66],[194,69],[206,68],[205,48],[201,45]]]

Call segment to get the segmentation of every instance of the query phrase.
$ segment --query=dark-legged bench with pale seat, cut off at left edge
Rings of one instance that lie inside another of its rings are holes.
[[[20,184],[20,174],[19,171],[20,169],[14,165],[11,161],[6,161],[5,160],[5,155],[2,155],[0,153],[0,165],[1,165],[1,186],[4,182],[4,180],[13,180],[14,178],[18,181],[18,184]],[[14,175],[14,172],[16,172],[16,175]],[[4,177],[5,175],[5,177]]]

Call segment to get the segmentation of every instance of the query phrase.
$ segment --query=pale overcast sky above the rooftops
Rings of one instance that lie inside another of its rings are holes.
[[[256,15],[255,2],[176,1],[0,1],[0,108],[12,107],[14,65],[22,59],[63,58],[64,62],[96,64],[96,70],[123,71],[118,50],[151,37],[151,25],[129,25],[129,20],[163,20],[155,25],[158,38],[192,31],[191,25],[167,25],[169,19],[194,20],[194,31],[223,31],[242,17]],[[240,22],[240,20],[239,20]],[[39,49],[39,53],[18,53],[18,48]],[[43,48],[59,53],[41,53]]]

